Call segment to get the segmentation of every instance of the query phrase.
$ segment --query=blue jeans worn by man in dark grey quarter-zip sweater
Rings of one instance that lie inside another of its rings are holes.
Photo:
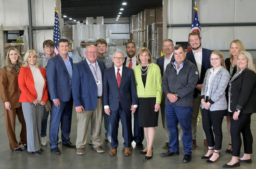
[[[191,130],[192,112],[193,107],[181,107],[174,104],[165,105],[167,128],[170,132],[170,151],[179,152],[179,131],[177,126],[179,123],[183,131],[182,143],[184,154],[192,155],[192,152],[190,151],[193,145]]]

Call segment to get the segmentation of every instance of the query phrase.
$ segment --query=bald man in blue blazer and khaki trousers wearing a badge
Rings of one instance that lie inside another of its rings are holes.
[[[91,120],[91,141],[93,149],[104,153],[102,148],[102,79],[106,69],[104,62],[96,61],[98,51],[95,45],[86,48],[86,59],[74,65],[72,93],[77,112],[77,154],[84,154],[88,136],[88,125]]]

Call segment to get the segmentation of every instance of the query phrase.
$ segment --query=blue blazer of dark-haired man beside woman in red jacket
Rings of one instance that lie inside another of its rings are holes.
[[[73,60],[69,57],[72,69]],[[51,99],[59,99],[62,102],[71,98],[71,77],[60,54],[49,59],[46,67],[47,85]]]

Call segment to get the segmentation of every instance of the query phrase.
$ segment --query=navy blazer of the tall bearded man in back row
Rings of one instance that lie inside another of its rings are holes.
[[[206,73],[207,69],[210,69],[210,54],[212,52],[213,51],[210,49],[202,48],[201,75],[200,75],[200,79],[198,79],[198,82],[196,83],[196,85],[203,84],[203,79],[204,79],[205,73]],[[186,57],[187,57],[187,59],[189,59],[190,62],[192,62],[196,65],[196,60],[195,60],[192,50],[187,52]],[[196,66],[196,68],[197,68],[197,66]],[[195,88],[194,97],[197,97],[198,93],[201,93],[201,92]]]

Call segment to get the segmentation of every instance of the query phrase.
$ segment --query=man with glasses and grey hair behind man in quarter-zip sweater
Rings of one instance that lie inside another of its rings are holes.
[[[173,55],[173,48],[174,48],[174,45],[173,45],[173,41],[171,39],[165,39],[163,41],[163,50],[165,52],[165,55],[163,55],[157,59],[157,65],[160,68],[161,76],[164,76],[166,66],[170,62],[173,62],[175,60],[174,55]],[[170,133],[168,131],[166,118],[165,118],[165,94],[164,93],[162,94],[160,109],[161,109],[162,124],[163,124],[163,128],[165,131],[165,144],[162,145],[162,148],[170,148],[168,145]],[[179,126],[179,129],[180,129],[180,126]],[[180,134],[180,132],[181,132],[181,130],[179,130],[179,134]]]

